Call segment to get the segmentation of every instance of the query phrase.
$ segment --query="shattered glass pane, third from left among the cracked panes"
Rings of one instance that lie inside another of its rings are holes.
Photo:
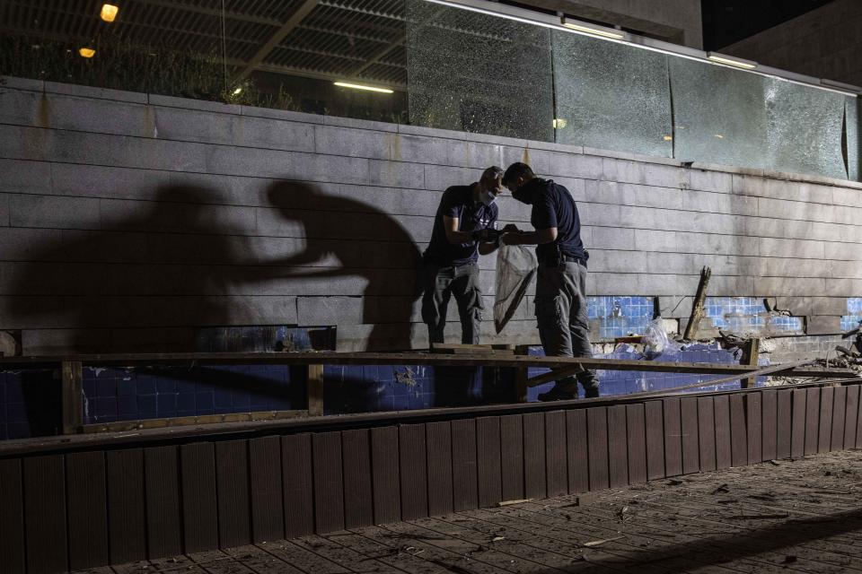
[[[730,68],[669,57],[673,157],[744,168],[767,167],[768,79]]]

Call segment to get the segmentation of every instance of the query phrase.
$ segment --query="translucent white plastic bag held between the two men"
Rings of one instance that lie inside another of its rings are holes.
[[[494,299],[494,326],[497,327],[497,333],[515,315],[536,274],[537,265],[531,248],[504,245],[497,249],[497,295]]]

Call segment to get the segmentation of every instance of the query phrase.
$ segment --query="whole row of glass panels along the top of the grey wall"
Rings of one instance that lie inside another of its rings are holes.
[[[538,17],[427,0],[136,0],[105,22],[98,6],[56,4],[0,4],[0,74],[860,178],[857,96]]]

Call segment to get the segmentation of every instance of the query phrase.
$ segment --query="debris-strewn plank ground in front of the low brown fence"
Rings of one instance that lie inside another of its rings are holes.
[[[843,451],[92,572],[862,572],[860,494]]]

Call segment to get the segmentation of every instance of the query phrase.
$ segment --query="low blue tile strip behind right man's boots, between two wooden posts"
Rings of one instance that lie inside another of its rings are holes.
[[[544,356],[541,347],[530,347],[529,354],[532,356]],[[721,348],[720,344],[690,344],[683,348],[681,352],[658,355],[651,358],[651,361],[669,361],[669,362],[715,362],[725,364],[739,364],[739,359],[742,353],[739,350],[727,351]],[[604,359],[626,359],[629,361],[643,361],[644,354],[638,352],[628,344],[620,344],[617,349],[611,353],[595,354],[597,358]],[[767,363],[769,364],[769,363]],[[547,369],[528,369],[527,376],[535,377],[548,372]],[[709,379],[722,378],[721,375],[688,375],[680,373],[658,373],[649,371],[633,371],[633,370],[599,370],[596,372],[599,378],[599,388],[603,396],[613,395],[628,395],[629,393],[638,393],[640,391],[655,391],[664,388],[682,387],[692,383],[708,381]],[[549,391],[554,383],[548,383],[539,387],[532,387],[527,392],[528,401],[539,400],[540,393]],[[727,390],[739,388],[739,383],[724,383],[721,385],[713,385],[707,387],[699,387],[689,389],[687,392],[700,392],[709,390]],[[584,395],[584,389],[578,388],[579,396]]]

